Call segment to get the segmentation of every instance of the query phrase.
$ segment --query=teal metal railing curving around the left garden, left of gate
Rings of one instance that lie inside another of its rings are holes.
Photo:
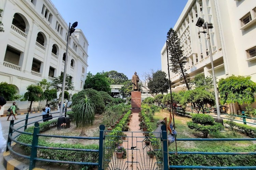
[[[57,118],[59,117],[59,112],[57,113],[52,113],[52,114],[57,114],[57,116],[53,116],[53,118]],[[37,160],[39,161],[44,161],[44,162],[51,162],[51,163],[61,163],[61,164],[76,164],[76,165],[88,165],[88,166],[98,166],[99,169],[101,169],[102,167],[102,155],[103,155],[103,148],[99,147],[98,150],[93,150],[93,149],[76,149],[76,148],[57,148],[57,147],[46,147],[46,146],[39,146],[38,145],[38,138],[39,136],[43,136],[43,137],[52,137],[52,138],[71,138],[71,139],[89,139],[89,140],[99,140],[99,146],[103,146],[103,137],[104,137],[104,129],[105,126],[104,125],[100,125],[100,137],[81,137],[81,136],[60,136],[60,135],[46,135],[46,134],[40,134],[39,132],[39,123],[38,121],[42,121],[42,120],[47,120],[48,118],[45,119],[40,119],[34,122],[30,122],[28,123],[29,119],[33,119],[33,118],[37,118],[37,117],[42,117],[42,115],[40,116],[33,116],[29,118],[29,113],[27,113],[26,115],[26,119],[17,121],[16,123],[14,123],[14,120],[11,120],[10,122],[10,127],[9,127],[9,133],[8,133],[8,140],[7,140],[7,147],[6,147],[6,151],[11,151],[12,153],[29,159],[30,163],[29,163],[29,170],[32,170],[35,167],[35,162]],[[65,112],[65,117],[66,117],[66,112]],[[15,127],[15,125],[17,123],[20,122],[24,122],[25,124],[22,126],[18,125],[18,128]],[[34,124],[34,128],[33,128],[33,133],[29,133],[29,132],[25,132],[25,130],[27,129],[28,125]],[[24,128],[24,131],[20,130]],[[18,133],[18,135],[13,136],[13,133],[16,132]],[[32,143],[28,144],[28,143],[23,143],[17,140],[17,137],[21,134],[25,134],[25,135],[31,135],[33,136],[32,138]],[[31,148],[31,152],[30,152],[30,156],[27,155],[23,155],[21,153],[18,153],[16,151],[14,151],[11,147],[11,142],[14,141],[16,143],[18,143],[21,146],[25,146],[25,147],[30,147]],[[75,162],[75,161],[67,161],[67,160],[53,160],[53,159],[45,159],[45,158],[37,158],[37,150],[38,148],[40,149],[52,149],[52,150],[64,150],[64,151],[78,151],[78,152],[97,152],[99,153],[99,159],[98,159],[98,163],[95,162]],[[101,169],[102,170],[102,169]]]

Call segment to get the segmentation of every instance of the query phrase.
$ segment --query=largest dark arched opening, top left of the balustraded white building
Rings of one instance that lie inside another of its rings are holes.
[[[20,13],[15,13],[13,15],[12,24],[17,28],[19,28],[20,30],[22,30],[23,32],[28,33],[29,23],[27,18],[24,15]]]

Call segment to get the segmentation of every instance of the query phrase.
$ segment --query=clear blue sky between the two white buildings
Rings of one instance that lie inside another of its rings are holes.
[[[66,22],[78,21],[88,47],[87,72],[116,70],[131,79],[161,70],[167,32],[187,0],[52,0]],[[65,3],[64,3],[65,2]]]

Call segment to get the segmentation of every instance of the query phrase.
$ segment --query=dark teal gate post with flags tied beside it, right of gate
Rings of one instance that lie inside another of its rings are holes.
[[[169,162],[168,162],[168,141],[167,141],[167,131],[166,125],[161,126],[162,130],[162,141],[163,141],[163,169],[169,169]]]

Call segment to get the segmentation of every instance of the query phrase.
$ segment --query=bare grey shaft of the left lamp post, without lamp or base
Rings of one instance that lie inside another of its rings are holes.
[[[63,100],[64,100],[64,91],[65,91],[65,84],[66,84],[66,72],[67,72],[67,65],[68,65],[70,26],[71,26],[71,23],[69,23],[69,31],[67,36],[67,49],[66,49],[66,58],[65,58],[65,65],[64,65],[64,72],[63,72],[63,83],[62,83],[61,101],[60,101],[60,116],[62,116],[62,112],[63,112]]]

